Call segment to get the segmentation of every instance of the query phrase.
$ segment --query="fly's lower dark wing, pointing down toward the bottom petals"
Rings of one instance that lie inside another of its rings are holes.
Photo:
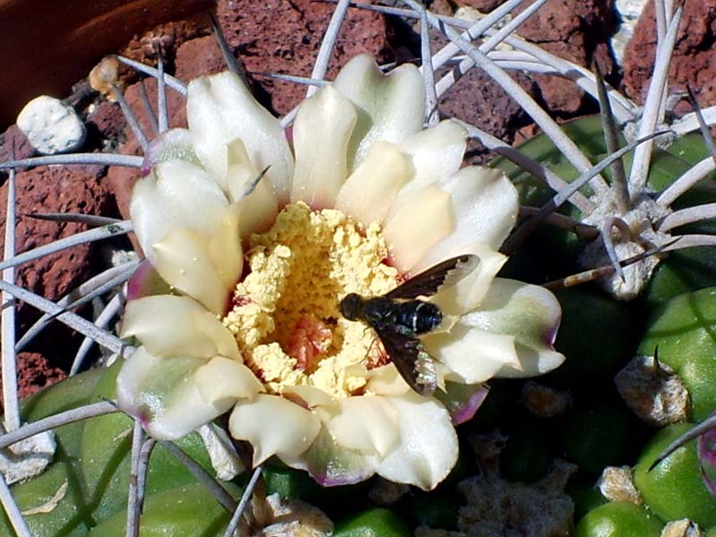
[[[435,362],[421,340],[408,328],[400,325],[373,327],[396,364],[400,376],[421,396],[431,396],[438,386]]]

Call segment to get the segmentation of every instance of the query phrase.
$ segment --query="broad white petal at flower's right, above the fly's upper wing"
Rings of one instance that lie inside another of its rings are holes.
[[[463,168],[442,188],[450,194],[455,213],[455,229],[430,249],[438,259],[462,244],[487,244],[497,251],[515,226],[519,201],[507,176],[498,170],[479,166]]]

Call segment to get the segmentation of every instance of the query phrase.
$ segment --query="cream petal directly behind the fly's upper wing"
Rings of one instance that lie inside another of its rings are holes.
[[[480,258],[477,267],[455,285],[441,288],[438,294],[430,299],[430,302],[438,304],[440,310],[447,315],[459,316],[473,311],[490,290],[492,280],[507,261],[507,257],[487,244],[476,243],[458,246],[455,251],[447,251],[445,257],[433,256],[432,251],[429,251],[413,268],[414,272],[419,273],[443,259],[465,253],[472,253]]]

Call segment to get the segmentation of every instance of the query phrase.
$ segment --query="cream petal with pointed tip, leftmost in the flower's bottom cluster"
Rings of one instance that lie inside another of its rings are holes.
[[[256,466],[272,455],[301,455],[318,435],[320,420],[283,397],[259,395],[234,406],[229,430],[234,439],[251,443]]]

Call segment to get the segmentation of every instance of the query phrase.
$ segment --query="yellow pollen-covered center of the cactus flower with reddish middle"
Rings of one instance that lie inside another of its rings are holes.
[[[337,398],[359,393],[367,371],[383,362],[372,330],[345,320],[338,303],[348,293],[396,286],[379,226],[363,229],[339,210],[290,204],[268,232],[251,236],[247,257],[250,272],[224,319],[246,365],[272,393],[288,386]]]

